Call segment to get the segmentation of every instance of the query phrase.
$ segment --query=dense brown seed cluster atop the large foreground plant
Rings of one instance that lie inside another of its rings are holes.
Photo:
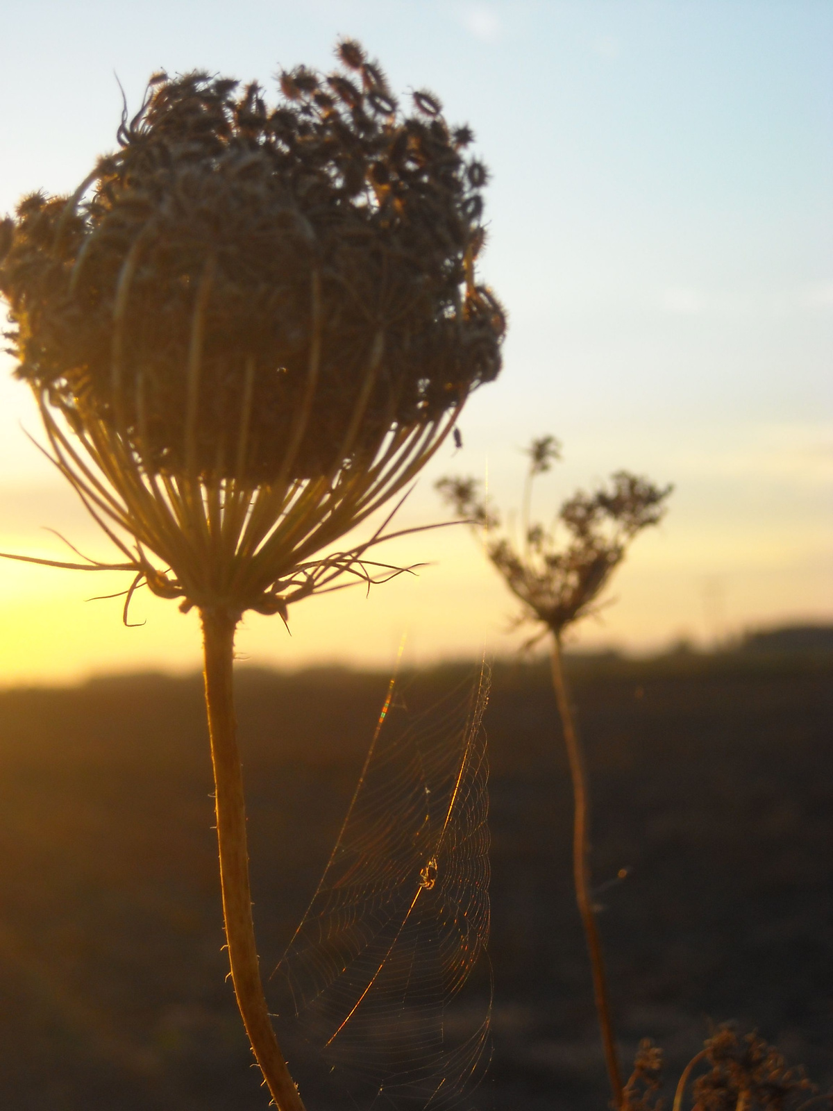
[[[0,223],[18,374],[148,473],[361,467],[500,370],[471,131],[428,92],[403,114],[358,43],[338,56],[283,72],[277,107],[157,74],[73,197]]]

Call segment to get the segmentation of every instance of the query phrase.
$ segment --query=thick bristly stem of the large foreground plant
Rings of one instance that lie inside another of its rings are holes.
[[[269,1018],[254,942],[245,799],[234,719],[233,660],[238,618],[219,608],[203,609],[201,618],[223,920],[234,994],[275,1107],[279,1111],[304,1111]]]

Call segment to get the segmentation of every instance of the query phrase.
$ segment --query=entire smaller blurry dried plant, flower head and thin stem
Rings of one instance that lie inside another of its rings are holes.
[[[591,891],[586,774],[564,678],[562,638],[565,629],[593,612],[634,537],[661,520],[671,487],[659,488],[628,471],[618,471],[610,487],[592,494],[583,491],[573,494],[559,511],[558,529],[548,529],[530,523],[532,483],[560,458],[561,448],[554,437],[545,436],[532,441],[528,454],[530,466],[523,492],[520,546],[502,528],[499,513],[475,479],[441,479],[438,489],[454,511],[483,536],[489,559],[522,603],[519,620],[538,627],[539,631],[529,643],[546,633],[552,637],[552,680],[573,784],[575,897],[593,971],[595,1005],[613,1102],[622,1108],[622,1079]]]

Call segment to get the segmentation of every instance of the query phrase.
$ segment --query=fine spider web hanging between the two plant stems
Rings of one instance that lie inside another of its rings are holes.
[[[489,1063],[489,681],[483,664],[419,709],[418,684],[391,680],[330,861],[274,973],[319,1069],[323,1058],[353,1105],[446,1111]]]

